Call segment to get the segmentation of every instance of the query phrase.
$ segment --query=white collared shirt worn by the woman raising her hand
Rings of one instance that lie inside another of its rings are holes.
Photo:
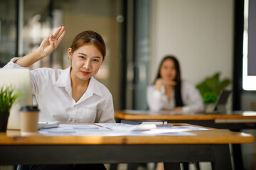
[[[14,63],[16,60],[18,57],[4,68],[24,68]],[[31,71],[31,83],[40,109],[39,121],[115,123],[112,94],[93,77],[78,102],[72,98],[70,67],[35,69]]]

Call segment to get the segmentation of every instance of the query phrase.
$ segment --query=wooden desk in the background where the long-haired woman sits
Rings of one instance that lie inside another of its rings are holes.
[[[121,120],[168,120],[168,123],[189,123],[210,128],[228,129],[240,132],[244,129],[256,129],[256,112],[245,111],[230,114],[187,113],[159,114],[157,111],[116,111],[114,116],[117,123]],[[241,146],[232,145],[235,169],[243,169]]]

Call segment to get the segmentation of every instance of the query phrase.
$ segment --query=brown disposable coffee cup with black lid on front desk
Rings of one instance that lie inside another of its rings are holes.
[[[38,134],[38,115],[37,106],[24,106],[20,110],[21,135],[37,135]]]

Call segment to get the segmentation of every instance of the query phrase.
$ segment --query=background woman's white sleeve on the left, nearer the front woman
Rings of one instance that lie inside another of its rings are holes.
[[[148,86],[146,89],[146,101],[151,111],[160,111],[164,108],[164,94],[155,89],[154,85]]]

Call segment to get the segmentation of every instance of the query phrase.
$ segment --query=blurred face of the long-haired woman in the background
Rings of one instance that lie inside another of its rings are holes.
[[[162,79],[174,80],[176,78],[176,68],[174,61],[171,59],[164,60],[160,68],[160,76]]]

